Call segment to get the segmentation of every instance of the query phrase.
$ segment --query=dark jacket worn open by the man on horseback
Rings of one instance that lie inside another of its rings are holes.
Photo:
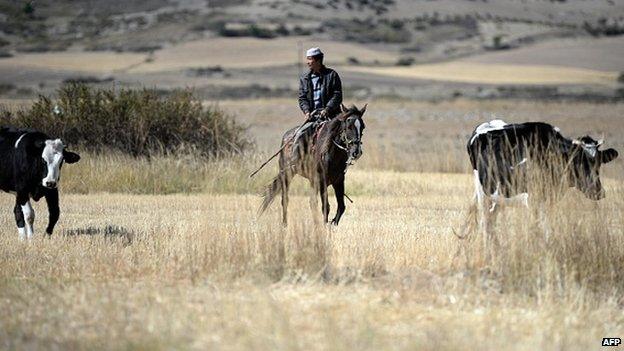
[[[314,110],[314,89],[312,88],[311,75],[312,71],[303,74],[299,79],[299,108],[303,113]],[[320,79],[323,84],[321,106],[328,109],[329,116],[335,116],[340,112],[340,104],[342,103],[340,77],[333,69],[323,66]]]

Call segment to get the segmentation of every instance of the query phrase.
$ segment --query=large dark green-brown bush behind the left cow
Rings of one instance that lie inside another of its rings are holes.
[[[120,150],[133,156],[193,151],[238,153],[250,146],[245,128],[190,91],[163,97],[156,90],[63,85],[58,98],[39,96],[27,110],[0,116],[0,124],[35,128],[83,150]]]

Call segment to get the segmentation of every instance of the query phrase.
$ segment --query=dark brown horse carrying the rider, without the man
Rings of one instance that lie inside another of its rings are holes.
[[[288,130],[282,137],[279,152],[279,173],[267,186],[259,214],[271,205],[277,194],[282,194],[282,223],[288,223],[288,187],[295,175],[310,181],[321,196],[324,222],[328,223],[329,201],[327,188],[331,185],[336,193],[338,208],[332,220],[338,225],[345,211],[345,173],[347,167],[362,156],[362,135],[365,124],[362,116],[366,105],[359,110],[355,105],[341,105],[341,113],[322,124],[313,135],[304,135],[304,152],[300,157],[293,154],[294,135],[298,128]],[[314,128],[312,128],[314,129]]]

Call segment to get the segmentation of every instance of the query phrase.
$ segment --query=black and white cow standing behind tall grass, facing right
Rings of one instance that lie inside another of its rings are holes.
[[[558,128],[547,123],[507,124],[502,120],[483,123],[468,140],[468,154],[475,178],[478,203],[484,197],[497,201],[520,196],[528,199],[530,167],[552,175],[551,191],[576,187],[593,200],[604,197],[600,166],[614,160],[614,149],[599,150],[602,141],[589,136],[568,139]],[[557,182],[559,184],[557,184]]]

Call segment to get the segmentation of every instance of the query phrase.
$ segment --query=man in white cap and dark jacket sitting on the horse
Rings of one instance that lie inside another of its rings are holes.
[[[304,139],[314,133],[315,127],[340,113],[342,83],[338,73],[323,64],[324,56],[319,48],[311,48],[306,52],[310,71],[299,79],[299,108],[306,122],[299,128],[294,138],[292,148],[294,162],[298,162],[307,152],[307,143]]]

